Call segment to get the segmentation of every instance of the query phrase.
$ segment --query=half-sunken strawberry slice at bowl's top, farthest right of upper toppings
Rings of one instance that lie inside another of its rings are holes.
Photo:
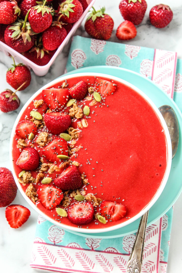
[[[97,78],[95,89],[103,96],[109,96],[116,90],[116,84],[107,80]]]

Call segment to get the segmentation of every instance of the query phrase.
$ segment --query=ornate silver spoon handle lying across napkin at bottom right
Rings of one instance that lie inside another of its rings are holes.
[[[129,261],[126,265],[126,272],[128,273],[141,273],[147,219],[148,211],[141,217],[139,223],[132,252],[130,253]]]

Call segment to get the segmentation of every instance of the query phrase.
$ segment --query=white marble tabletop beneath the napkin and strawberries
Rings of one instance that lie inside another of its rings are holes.
[[[168,4],[174,13],[174,17],[169,26],[164,29],[157,29],[150,25],[148,14],[156,4],[157,1],[147,0],[147,11],[145,13],[144,20],[141,25],[137,26],[137,36],[135,39],[127,41],[126,43],[146,46],[150,48],[159,48],[165,50],[176,51],[178,58],[182,58],[182,2],[181,0],[165,0],[163,4]],[[113,4],[114,3],[114,4]],[[109,13],[114,19],[114,31],[112,33],[111,41],[118,42],[115,37],[115,32],[118,25],[123,21],[123,18],[118,9],[120,0],[96,0],[94,7],[99,8],[105,5],[106,12]],[[159,3],[160,4],[160,1]],[[77,30],[76,35],[82,35],[88,37],[88,34],[84,31],[84,22]],[[119,41],[120,42],[120,41]],[[55,63],[50,68],[46,76],[38,77],[32,71],[32,81],[25,91],[19,92],[18,95],[21,100],[19,109],[14,112],[3,114],[0,112],[0,166],[9,167],[9,141],[11,129],[14,121],[22,108],[23,104],[31,97],[31,95],[37,91],[41,86],[55,79],[64,72],[65,64],[67,61],[67,55],[69,52],[69,45],[58,56]],[[12,63],[11,58],[5,56],[0,52],[0,82],[1,91],[5,88],[10,88],[6,82],[6,71]],[[26,203],[24,198],[18,191],[14,204],[22,204],[28,207],[31,211],[29,220],[19,229],[11,229],[5,219],[5,208],[0,208],[0,265],[1,272],[5,273],[34,273],[37,272],[29,267],[32,244],[34,240],[37,213]],[[169,250],[168,259],[168,273],[181,272],[182,268],[182,195],[178,198],[174,207],[174,217],[171,232],[171,244]]]

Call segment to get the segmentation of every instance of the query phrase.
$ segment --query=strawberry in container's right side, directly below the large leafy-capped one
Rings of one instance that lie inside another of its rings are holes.
[[[54,50],[60,46],[67,32],[63,26],[50,26],[42,33],[42,43],[45,49]]]

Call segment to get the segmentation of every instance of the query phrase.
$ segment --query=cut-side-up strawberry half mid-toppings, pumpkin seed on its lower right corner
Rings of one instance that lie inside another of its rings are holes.
[[[56,137],[42,150],[42,154],[50,162],[59,162],[58,155],[68,156],[68,145],[63,138]]]

